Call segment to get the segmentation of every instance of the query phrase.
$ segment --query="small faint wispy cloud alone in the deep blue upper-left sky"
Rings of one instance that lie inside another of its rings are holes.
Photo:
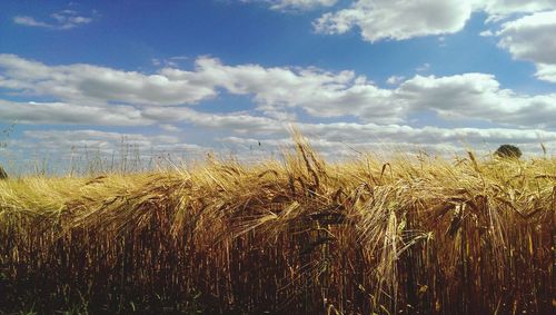
[[[95,12],[93,12],[95,13]],[[27,27],[38,27],[57,30],[69,30],[92,22],[93,16],[82,16],[75,10],[62,10],[50,14],[48,22],[29,16],[16,16],[13,22]]]

